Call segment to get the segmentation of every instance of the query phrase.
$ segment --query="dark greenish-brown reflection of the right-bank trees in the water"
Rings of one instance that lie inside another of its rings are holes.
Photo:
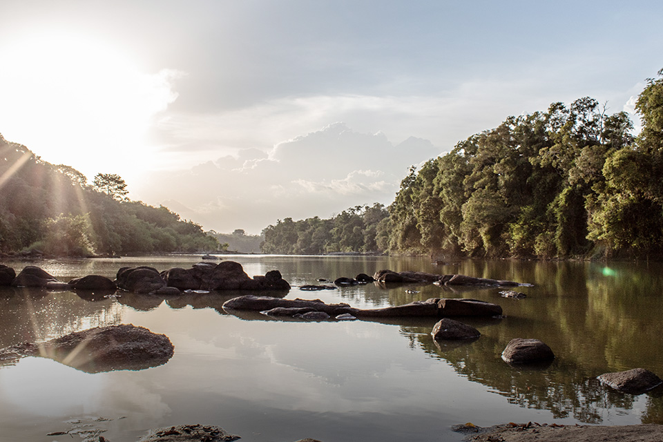
[[[603,410],[632,410],[635,396],[602,387],[593,378],[605,372],[644,367],[662,373],[663,266],[659,263],[462,262],[459,273],[532,282],[525,300],[498,298],[497,290],[463,292],[502,305],[506,319],[493,325],[465,322],[483,336],[469,345],[436,345],[429,327],[401,327],[412,346],[448,361],[470,381],[486,385],[522,407],[550,410],[600,423]],[[421,299],[432,298],[422,289]],[[440,294],[437,296],[447,296]],[[390,303],[403,303],[401,291]],[[499,355],[511,338],[539,338],[557,355],[546,369],[513,368]],[[647,394],[646,423],[663,423],[663,391]]]

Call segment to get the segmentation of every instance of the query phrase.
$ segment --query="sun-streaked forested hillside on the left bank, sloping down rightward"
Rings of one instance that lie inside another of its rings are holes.
[[[214,251],[215,238],[164,206],[126,198],[126,183],[99,173],[92,185],[0,135],[0,253],[55,256]]]

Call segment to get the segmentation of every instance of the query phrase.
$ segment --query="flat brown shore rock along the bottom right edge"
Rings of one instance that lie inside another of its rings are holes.
[[[467,425],[462,425],[463,427]],[[465,441],[476,442],[653,442],[663,441],[663,425],[514,424],[470,428]]]

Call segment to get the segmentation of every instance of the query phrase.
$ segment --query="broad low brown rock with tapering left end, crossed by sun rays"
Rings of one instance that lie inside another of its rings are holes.
[[[45,343],[24,343],[0,350],[0,361],[43,356],[84,372],[146,369],[173,356],[168,336],[131,324],[75,332]]]

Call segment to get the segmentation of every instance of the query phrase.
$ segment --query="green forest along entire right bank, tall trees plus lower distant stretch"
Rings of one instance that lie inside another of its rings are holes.
[[[637,137],[626,113],[589,97],[508,117],[413,166],[388,216],[286,218],[265,229],[263,251],[661,258],[663,70],[635,108]]]

